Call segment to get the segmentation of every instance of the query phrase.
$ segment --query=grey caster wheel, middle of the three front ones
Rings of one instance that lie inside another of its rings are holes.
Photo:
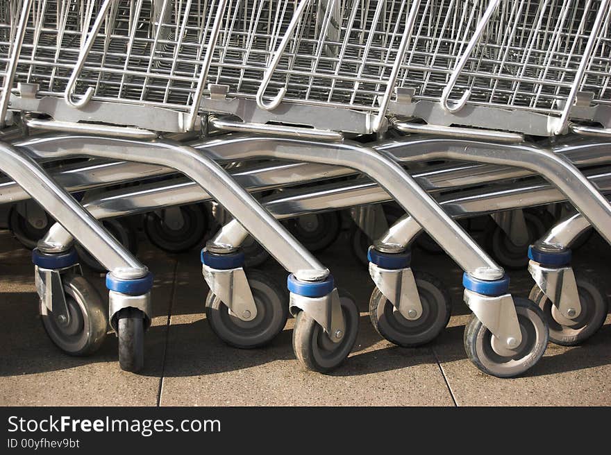
[[[329,372],[340,366],[350,354],[358,334],[358,308],[348,295],[340,295],[346,320],[346,333],[340,343],[333,343],[318,323],[303,311],[295,318],[293,350],[297,359],[317,372]]]

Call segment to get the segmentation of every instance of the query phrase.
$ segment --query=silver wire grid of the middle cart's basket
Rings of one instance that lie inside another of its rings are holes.
[[[296,4],[251,2],[220,33],[219,60],[209,80],[230,96],[256,96]],[[271,73],[266,98],[286,89],[284,101],[375,111],[385,93],[409,2],[310,1]]]

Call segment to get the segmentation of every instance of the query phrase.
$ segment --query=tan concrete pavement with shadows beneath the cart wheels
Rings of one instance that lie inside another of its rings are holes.
[[[608,277],[611,248],[597,236],[576,252],[580,271]],[[496,379],[467,360],[462,332],[469,318],[461,302],[461,271],[444,255],[416,251],[414,267],[450,289],[453,316],[434,343],[396,347],[371,327],[367,304],[373,284],[353,259],[345,232],[319,255],[336,282],[357,300],[358,341],[348,361],[331,375],[301,368],[291,345],[293,320],[268,347],[237,350],[212,333],[203,314],[208,289],[196,252],[166,255],[142,243],[139,257],[155,273],[153,325],[146,335],[146,364],[139,375],[122,372],[117,341],[108,336],[92,357],[58,350],[37,316],[29,252],[0,233],[1,405],[611,405],[611,316],[579,347],[550,344],[524,377]],[[265,272],[283,282],[273,261]],[[102,295],[103,278],[88,274]],[[511,273],[515,295],[528,295],[526,271]]]

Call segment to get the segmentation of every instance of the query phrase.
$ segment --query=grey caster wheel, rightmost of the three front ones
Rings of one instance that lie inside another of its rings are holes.
[[[496,347],[496,338],[474,316],[464,327],[464,350],[475,365],[496,377],[521,375],[542,357],[549,339],[543,311],[524,298],[514,298],[522,342],[514,350]]]

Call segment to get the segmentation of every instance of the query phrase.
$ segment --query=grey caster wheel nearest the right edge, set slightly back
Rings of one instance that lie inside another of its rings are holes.
[[[542,309],[549,325],[549,340],[557,345],[574,346],[594,335],[605,323],[608,300],[601,286],[585,277],[576,277],[581,313],[575,319],[564,318],[547,295],[535,285],[528,298]]]

